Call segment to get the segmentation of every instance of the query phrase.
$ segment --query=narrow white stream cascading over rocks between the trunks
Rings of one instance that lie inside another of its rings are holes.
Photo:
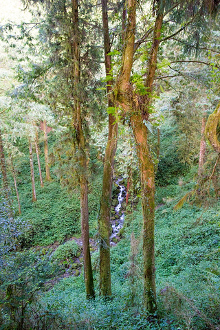
[[[118,186],[120,188],[120,193],[118,195],[118,205],[115,206],[116,214],[119,214],[119,212],[122,208],[122,201],[123,201],[124,197],[126,196],[126,192],[124,192],[125,187],[120,185],[120,181],[122,181],[122,179],[118,179],[116,181],[116,184],[118,184]],[[111,246],[115,245],[114,239],[117,239],[120,229],[123,227],[123,224],[124,224],[124,211],[122,210],[121,212],[122,212],[122,215],[120,216],[119,219],[111,220],[111,227],[112,227],[112,234],[110,236],[110,245]]]

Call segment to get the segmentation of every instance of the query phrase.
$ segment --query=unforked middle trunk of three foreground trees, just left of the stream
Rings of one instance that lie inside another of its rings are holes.
[[[111,56],[109,39],[109,22],[107,0],[102,0],[102,27],[104,34],[104,63],[107,77],[108,107],[115,107],[112,94]],[[108,79],[109,78],[109,79]],[[111,269],[110,269],[110,217],[111,192],[113,184],[114,157],[117,148],[118,123],[115,116],[109,114],[109,136],[104,155],[104,170],[102,179],[102,195],[98,216],[98,230],[100,236],[100,294],[111,296]]]

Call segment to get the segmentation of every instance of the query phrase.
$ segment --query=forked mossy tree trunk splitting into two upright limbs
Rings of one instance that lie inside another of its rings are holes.
[[[161,7],[160,2],[158,2],[158,5]],[[130,84],[135,41],[136,1],[128,0],[127,6],[128,19],[122,54],[122,67],[118,76],[115,93],[117,93],[117,100],[124,109],[124,112],[130,115],[131,126],[136,142],[137,157],[140,163],[142,214],[144,222],[144,307],[148,309],[150,313],[154,313],[156,310],[154,256],[155,172],[148,147],[148,132],[144,120],[148,120],[148,110],[151,105],[164,8],[158,8],[157,17],[155,19],[153,42],[148,61],[148,75],[145,82],[147,94],[145,96],[138,96],[134,93]]]

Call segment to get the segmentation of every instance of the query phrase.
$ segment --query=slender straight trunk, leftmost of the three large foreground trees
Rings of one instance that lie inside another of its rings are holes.
[[[88,208],[88,180],[87,180],[87,154],[85,146],[85,137],[83,134],[83,126],[81,119],[81,102],[80,102],[80,40],[78,30],[78,0],[72,0],[73,14],[73,35],[72,35],[72,59],[73,59],[73,80],[74,80],[74,113],[73,121],[76,130],[76,144],[78,147],[78,162],[80,164],[80,212],[83,239],[83,263],[84,277],[87,298],[94,298],[94,280],[91,268],[91,255],[89,250],[89,208]]]

